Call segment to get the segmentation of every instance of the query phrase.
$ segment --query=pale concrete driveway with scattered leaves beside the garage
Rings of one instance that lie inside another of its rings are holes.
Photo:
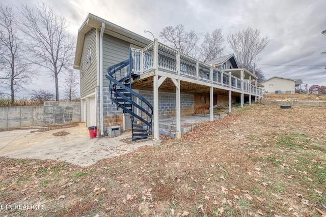
[[[79,126],[73,128],[32,131],[35,129],[0,132],[0,157],[60,160],[87,167],[101,159],[119,156],[143,145],[153,145],[151,140],[129,144],[120,141],[131,138],[130,132],[115,138],[90,139],[85,123],[79,123]],[[69,134],[52,135],[60,131]]]

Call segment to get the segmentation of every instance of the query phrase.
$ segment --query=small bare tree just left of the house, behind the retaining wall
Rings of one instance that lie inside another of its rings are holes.
[[[69,70],[66,74],[65,82],[64,82],[64,89],[63,94],[65,99],[71,101],[77,99],[78,94],[78,86],[79,86],[79,74],[76,73],[74,70]]]

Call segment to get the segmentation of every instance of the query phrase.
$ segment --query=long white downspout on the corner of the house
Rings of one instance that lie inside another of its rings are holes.
[[[105,24],[102,22],[101,33],[100,33],[100,135],[104,135],[103,126],[103,34],[104,34]]]

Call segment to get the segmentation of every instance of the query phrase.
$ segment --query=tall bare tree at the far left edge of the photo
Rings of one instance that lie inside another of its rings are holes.
[[[34,74],[25,61],[17,29],[12,6],[0,5],[0,83],[10,89],[12,106],[15,104],[15,92],[24,89]]]

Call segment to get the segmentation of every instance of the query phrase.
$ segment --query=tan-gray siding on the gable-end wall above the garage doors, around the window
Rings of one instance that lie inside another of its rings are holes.
[[[91,48],[92,64],[87,68],[87,53]],[[96,87],[96,29],[91,29],[86,35],[82,51],[80,67],[84,68],[84,76],[80,75],[80,97],[85,97],[95,91]],[[79,70],[80,72],[80,70]]]

